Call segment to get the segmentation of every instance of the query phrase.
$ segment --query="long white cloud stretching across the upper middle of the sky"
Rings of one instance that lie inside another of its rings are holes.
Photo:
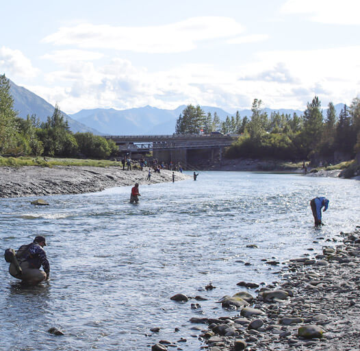
[[[192,17],[152,27],[114,27],[85,23],[75,27],[61,27],[43,41],[81,48],[176,53],[196,48],[196,43],[200,40],[229,38],[242,32],[242,25],[229,17]]]

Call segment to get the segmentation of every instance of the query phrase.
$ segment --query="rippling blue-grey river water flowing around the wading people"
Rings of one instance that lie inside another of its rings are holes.
[[[0,350],[151,350],[181,337],[177,346],[200,350],[199,325],[189,319],[235,313],[215,302],[240,291],[240,280],[279,279],[281,265],[263,258],[320,252],[326,238],[359,224],[355,180],[213,171],[196,182],[140,186],[138,205],[129,192],[44,197],[46,207],[32,206],[35,197],[0,199],[1,250],[42,234],[51,263],[51,280],[29,288],[1,260]],[[321,230],[309,207],[316,195],[330,199]],[[216,289],[205,291],[209,282]],[[196,300],[173,302],[175,293],[208,300],[193,310]],[[53,326],[65,335],[47,333]]]

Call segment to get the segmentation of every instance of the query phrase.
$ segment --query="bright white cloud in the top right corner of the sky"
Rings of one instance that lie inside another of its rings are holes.
[[[287,14],[310,14],[320,23],[360,25],[359,0],[288,0],[281,8]]]

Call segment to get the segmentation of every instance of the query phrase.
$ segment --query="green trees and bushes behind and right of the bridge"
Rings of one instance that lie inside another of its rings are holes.
[[[303,114],[270,116],[262,109],[262,101],[254,99],[251,116],[241,118],[237,111],[220,121],[216,112],[205,114],[200,106],[188,105],[177,119],[176,134],[241,134],[227,149],[229,158],[277,158],[283,160],[325,160],[354,158],[360,151],[360,99],[344,105],[339,116],[332,102],[326,115],[320,99],[307,103]]]

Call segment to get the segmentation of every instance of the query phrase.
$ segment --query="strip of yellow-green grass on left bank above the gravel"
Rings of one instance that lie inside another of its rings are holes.
[[[1,157],[0,166],[22,167],[22,166],[92,166],[92,167],[120,167],[121,163],[110,160],[82,160],[80,158],[51,158],[51,157]],[[122,165],[121,165],[122,166]]]

